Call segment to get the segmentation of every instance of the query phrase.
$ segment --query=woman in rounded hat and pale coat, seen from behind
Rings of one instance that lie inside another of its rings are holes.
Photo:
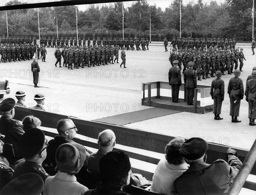
[[[76,194],[83,195],[88,190],[76,181],[76,174],[80,171],[86,159],[86,150],[79,143],[64,143],[56,151],[58,172],[46,179],[44,195]]]

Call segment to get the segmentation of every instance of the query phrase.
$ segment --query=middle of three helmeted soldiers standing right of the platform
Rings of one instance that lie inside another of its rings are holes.
[[[244,85],[243,80],[239,78],[241,75],[240,70],[234,71],[235,77],[231,78],[228,87],[227,93],[230,96],[230,116],[232,117],[232,123],[240,123],[241,120],[238,120],[239,109],[241,100],[244,98]]]

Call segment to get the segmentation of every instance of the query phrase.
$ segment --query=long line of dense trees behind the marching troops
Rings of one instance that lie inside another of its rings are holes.
[[[125,37],[149,38],[151,14],[151,40],[171,40],[180,35],[180,0],[168,1],[162,10],[145,0],[128,2],[124,9]],[[6,5],[22,2],[11,0]],[[253,0],[182,1],[181,37],[224,37],[239,41],[252,40]],[[9,36],[38,37],[37,9],[6,11]],[[6,12],[0,13],[0,36],[7,36]],[[150,12],[150,13],[149,13]],[[76,37],[76,6],[39,8],[41,37]],[[79,37],[122,37],[122,3],[109,6],[88,5],[85,11],[78,9]],[[256,25],[254,25],[254,30]]]

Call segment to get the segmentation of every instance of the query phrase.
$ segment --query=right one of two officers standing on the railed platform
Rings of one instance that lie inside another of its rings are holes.
[[[188,63],[189,69],[184,72],[184,83],[186,87],[187,104],[193,105],[194,91],[197,87],[196,72],[193,70],[194,63],[190,61]]]

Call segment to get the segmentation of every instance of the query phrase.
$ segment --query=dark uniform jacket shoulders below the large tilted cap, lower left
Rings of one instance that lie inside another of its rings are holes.
[[[31,161],[21,160],[14,169],[12,179],[15,179],[20,175],[24,175],[26,173],[35,173],[39,175],[44,181],[46,180],[46,178],[49,177],[48,173],[45,172],[43,166],[41,166],[40,164]]]

